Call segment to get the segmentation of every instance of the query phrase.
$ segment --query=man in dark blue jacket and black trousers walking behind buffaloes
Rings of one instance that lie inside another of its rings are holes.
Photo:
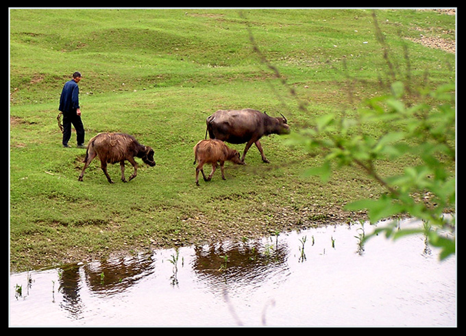
[[[79,87],[77,83],[82,76],[79,72],[73,73],[73,79],[67,81],[60,96],[60,107],[58,109],[63,114],[63,147],[69,148],[71,138],[71,124],[76,130],[77,148],[86,148],[84,146],[84,125],[81,120],[81,110],[79,109]]]

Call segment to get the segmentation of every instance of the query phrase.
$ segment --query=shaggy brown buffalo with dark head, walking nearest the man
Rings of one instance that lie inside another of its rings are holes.
[[[93,161],[96,156],[99,156],[103,173],[110,183],[113,183],[113,181],[108,175],[107,164],[120,163],[121,181],[123,182],[126,182],[125,160],[130,161],[134,168],[130,181],[136,177],[136,170],[138,169],[134,157],[140,157],[151,167],[156,165],[156,161],[154,161],[154,149],[140,144],[134,136],[124,133],[99,133],[89,140],[86,157],[83,161],[84,168],[82,168],[81,175],[79,175],[79,181],[82,181],[84,170],[88,168],[90,161]]]

